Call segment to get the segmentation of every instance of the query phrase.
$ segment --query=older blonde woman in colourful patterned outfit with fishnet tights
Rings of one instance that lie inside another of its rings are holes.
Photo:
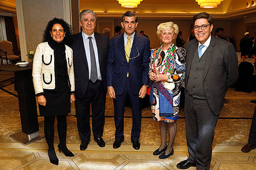
[[[184,81],[186,51],[177,48],[174,40],[179,28],[172,22],[157,26],[160,48],[151,51],[149,78],[152,81],[150,102],[153,119],[159,121],[161,145],[153,152],[160,159],[173,155],[180,103],[180,82]],[[169,131],[169,143],[166,137]]]

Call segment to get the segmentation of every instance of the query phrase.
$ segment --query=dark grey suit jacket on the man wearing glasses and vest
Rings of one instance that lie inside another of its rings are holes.
[[[198,52],[198,40],[186,45],[185,87],[188,84],[189,71],[195,52]],[[204,66],[204,92],[213,113],[221,111],[227,88],[238,79],[238,60],[233,45],[225,40],[211,37]],[[185,89],[186,90],[186,89]]]

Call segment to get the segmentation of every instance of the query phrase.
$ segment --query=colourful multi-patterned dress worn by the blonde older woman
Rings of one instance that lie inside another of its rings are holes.
[[[150,70],[155,74],[170,76],[169,82],[152,82],[150,103],[153,119],[174,122],[178,119],[180,103],[180,82],[184,81],[186,51],[172,44],[162,51],[163,45],[151,51]]]

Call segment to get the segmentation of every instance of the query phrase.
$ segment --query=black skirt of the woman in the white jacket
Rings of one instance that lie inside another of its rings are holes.
[[[68,114],[70,109],[70,89],[67,79],[57,80],[56,91],[45,91],[46,105],[39,105],[41,116],[51,117]]]

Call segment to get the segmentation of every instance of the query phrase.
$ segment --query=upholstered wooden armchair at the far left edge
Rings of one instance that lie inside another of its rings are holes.
[[[1,58],[1,64],[3,64],[3,59],[6,60],[6,63],[8,63],[8,60],[11,61],[20,61],[20,56],[17,56],[14,54],[12,42],[3,40],[0,41],[0,58]]]

